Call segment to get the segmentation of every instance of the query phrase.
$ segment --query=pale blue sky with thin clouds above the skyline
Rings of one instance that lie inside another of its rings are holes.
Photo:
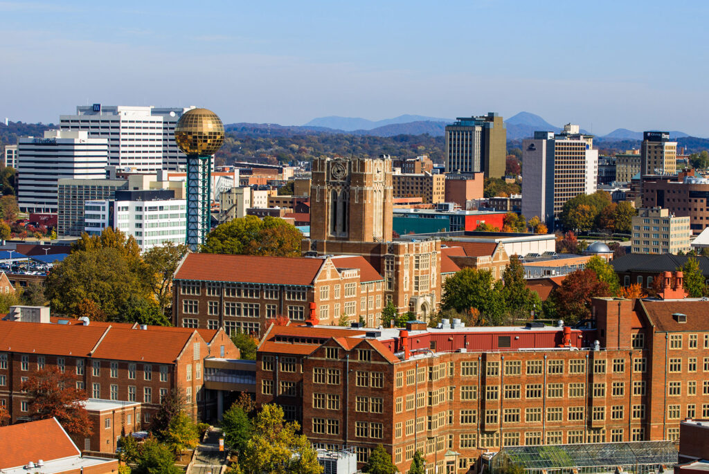
[[[0,1],[0,119],[224,123],[496,111],[709,137],[705,1]]]

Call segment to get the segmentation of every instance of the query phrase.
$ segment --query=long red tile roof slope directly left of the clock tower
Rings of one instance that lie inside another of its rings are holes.
[[[277,285],[312,285],[323,259],[280,256],[187,254],[178,280],[242,281]]]

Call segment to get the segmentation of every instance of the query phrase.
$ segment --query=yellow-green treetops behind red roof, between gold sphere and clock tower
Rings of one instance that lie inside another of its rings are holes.
[[[283,219],[247,215],[218,225],[201,251],[208,254],[300,256],[303,235]]]

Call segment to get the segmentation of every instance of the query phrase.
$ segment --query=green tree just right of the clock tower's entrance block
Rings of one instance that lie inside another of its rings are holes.
[[[471,314],[479,311],[484,323],[496,326],[503,314],[501,282],[488,270],[465,268],[443,283],[442,308]]]

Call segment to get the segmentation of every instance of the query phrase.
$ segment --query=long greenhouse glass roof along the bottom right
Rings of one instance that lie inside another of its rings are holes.
[[[677,463],[677,448],[672,441],[635,441],[629,443],[557,444],[548,446],[510,446],[491,461],[494,472],[509,459],[524,469],[586,468],[593,466]]]

